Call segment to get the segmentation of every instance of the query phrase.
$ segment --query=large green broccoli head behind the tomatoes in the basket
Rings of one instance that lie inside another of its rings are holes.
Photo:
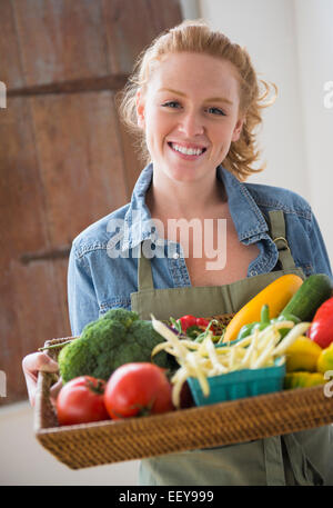
[[[59,353],[59,370],[63,382],[78,376],[109,379],[113,370],[133,361],[153,361],[173,370],[175,360],[165,351],[153,358],[153,348],[164,339],[151,321],[139,319],[137,312],[111,309],[97,321],[88,323],[81,337],[65,345]]]

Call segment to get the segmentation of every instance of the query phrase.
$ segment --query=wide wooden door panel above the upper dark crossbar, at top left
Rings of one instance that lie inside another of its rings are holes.
[[[100,0],[12,0],[27,86],[105,76]]]

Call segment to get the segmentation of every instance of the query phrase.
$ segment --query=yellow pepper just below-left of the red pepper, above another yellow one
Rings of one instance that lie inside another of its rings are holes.
[[[285,369],[287,372],[295,370],[316,370],[317,359],[322,348],[305,336],[300,336],[285,351]]]

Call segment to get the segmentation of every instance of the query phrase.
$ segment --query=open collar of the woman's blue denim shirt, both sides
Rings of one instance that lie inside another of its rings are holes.
[[[143,240],[153,239],[157,241],[154,225],[149,208],[145,205],[145,193],[151,185],[153,176],[152,163],[148,165],[140,173],[134,186],[130,207],[125,213],[124,236],[122,250],[133,249]],[[216,168],[216,178],[223,181],[229,209],[234,222],[239,240],[245,243],[253,243],[266,235],[268,223],[249,192],[246,185],[242,183],[223,166]]]

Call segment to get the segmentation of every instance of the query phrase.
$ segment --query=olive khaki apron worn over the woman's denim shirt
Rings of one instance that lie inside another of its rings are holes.
[[[234,313],[284,273],[296,273],[304,279],[285,240],[283,212],[271,211],[270,221],[270,235],[279,250],[281,269],[224,286],[154,289],[151,262],[143,256],[141,245],[139,290],[131,295],[132,310],[141,319],[151,319],[152,313],[160,320],[188,313],[199,317]],[[330,428],[322,427],[222,448],[170,454],[142,460],[139,482],[167,486],[322,485],[331,447]]]

